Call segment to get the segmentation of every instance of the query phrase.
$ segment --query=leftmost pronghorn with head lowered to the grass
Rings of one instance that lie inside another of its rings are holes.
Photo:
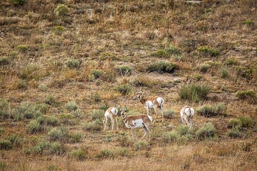
[[[104,114],[103,118],[103,131],[106,130],[106,125],[107,125],[107,121],[110,118],[110,122],[112,122],[112,131],[114,129],[114,118],[116,120],[116,124],[117,124],[117,129],[119,129],[118,127],[118,120],[117,120],[117,115],[118,115],[118,109],[116,109],[115,107],[110,107],[109,109],[106,110],[106,113]]]

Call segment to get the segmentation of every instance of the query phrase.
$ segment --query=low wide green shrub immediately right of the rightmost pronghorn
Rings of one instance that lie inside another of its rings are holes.
[[[215,105],[203,105],[197,109],[197,114],[199,116],[211,117],[217,116],[219,114],[225,114],[228,107],[224,103],[217,103]]]

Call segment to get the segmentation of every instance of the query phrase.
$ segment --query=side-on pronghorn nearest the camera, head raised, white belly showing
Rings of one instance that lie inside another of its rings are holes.
[[[123,122],[125,124],[125,127],[127,127],[128,129],[131,129],[131,131],[132,131],[132,141],[133,141],[133,135],[135,133],[134,129],[136,129],[136,128],[143,128],[145,131],[145,134],[143,135],[141,140],[143,140],[145,135],[147,135],[147,131],[148,131],[149,132],[149,141],[150,141],[150,139],[151,139],[150,124],[151,124],[151,121],[153,120],[153,118],[151,118],[151,116],[149,116],[149,115],[144,115],[144,114],[127,116],[126,110],[127,110],[127,107],[121,108],[120,111],[121,111],[121,116],[122,116]]]

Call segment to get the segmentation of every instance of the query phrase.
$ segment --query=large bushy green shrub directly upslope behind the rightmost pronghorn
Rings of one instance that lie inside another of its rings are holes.
[[[185,84],[178,91],[180,98],[184,101],[192,101],[199,103],[199,101],[204,101],[207,99],[207,95],[210,92],[208,86],[203,86],[199,84]]]

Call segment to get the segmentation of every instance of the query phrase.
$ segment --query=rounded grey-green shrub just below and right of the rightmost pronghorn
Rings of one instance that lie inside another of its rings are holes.
[[[215,137],[216,132],[217,130],[212,123],[204,123],[203,127],[199,128],[195,135],[199,140],[204,140],[206,138]]]

